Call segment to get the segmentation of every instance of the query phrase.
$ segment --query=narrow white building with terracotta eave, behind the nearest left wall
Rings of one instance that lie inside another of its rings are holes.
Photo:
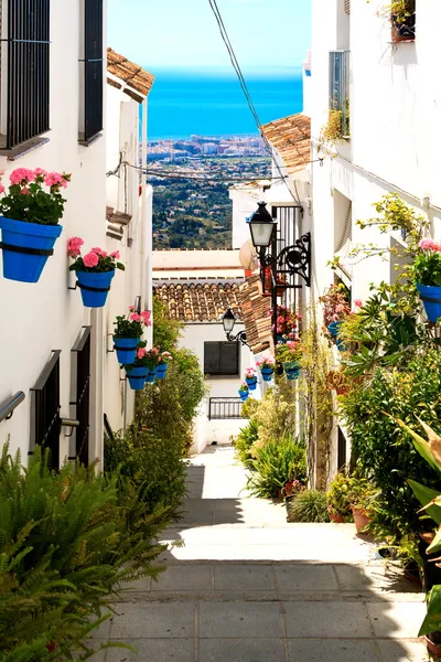
[[[135,392],[111,352],[117,316],[129,306],[152,310],[152,197],[139,166],[146,167],[148,95],[154,77],[123,55],[107,49],[106,250],[119,250],[126,265],[123,278],[114,279],[104,312],[106,360],[104,413],[112,430],[125,428],[133,417]],[[149,346],[152,328],[146,329]]]

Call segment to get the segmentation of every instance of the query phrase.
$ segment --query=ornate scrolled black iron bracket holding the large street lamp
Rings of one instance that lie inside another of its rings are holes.
[[[292,246],[286,246],[278,255],[267,254],[266,248],[260,249],[261,277],[265,269],[271,267],[276,275],[300,276],[306,287],[311,287],[311,233],[306,232]],[[272,284],[273,287],[276,284]],[[286,284],[287,288],[299,288],[299,285]],[[301,287],[301,286],[300,286]]]

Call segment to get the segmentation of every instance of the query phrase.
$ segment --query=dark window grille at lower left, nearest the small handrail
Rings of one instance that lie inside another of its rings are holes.
[[[35,386],[31,388],[33,441],[51,450],[51,463],[54,469],[60,467],[60,350],[53,352],[51,361]]]

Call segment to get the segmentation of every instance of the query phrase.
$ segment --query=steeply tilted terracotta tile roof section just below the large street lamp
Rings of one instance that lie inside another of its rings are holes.
[[[262,297],[259,276],[251,276],[240,286],[239,305],[247,334],[247,342],[252,352],[258,354],[272,348],[271,302]]]

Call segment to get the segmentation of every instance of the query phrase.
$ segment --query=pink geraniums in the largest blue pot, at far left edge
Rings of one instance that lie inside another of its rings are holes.
[[[0,175],[3,172],[0,172]],[[3,250],[3,276],[21,282],[37,282],[63,227],[65,199],[61,190],[71,175],[46,172],[42,168],[18,168],[10,174],[6,193],[1,183],[0,228]]]

